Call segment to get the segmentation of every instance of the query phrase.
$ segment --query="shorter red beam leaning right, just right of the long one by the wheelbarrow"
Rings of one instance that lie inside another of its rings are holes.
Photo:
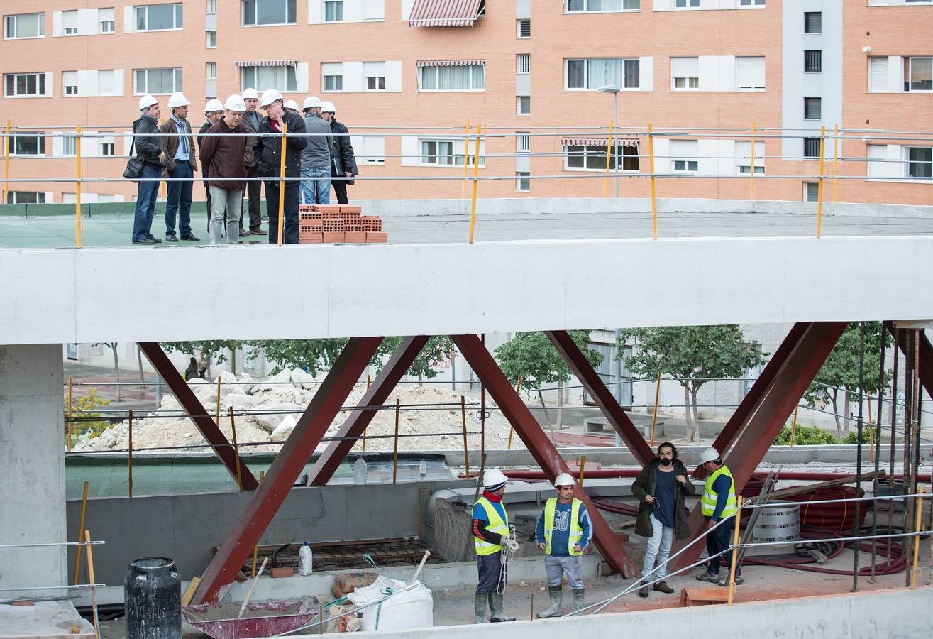
[[[396,352],[389,358],[389,361],[385,362],[382,372],[376,376],[376,379],[369,386],[369,391],[366,391],[357,406],[383,405],[385,400],[388,399],[389,393],[396,388],[398,380],[405,375],[405,371],[418,357],[421,349],[425,348],[428,339],[427,335],[417,335],[403,339]],[[317,458],[317,462],[314,462],[310,473],[312,486],[327,484],[327,481],[334,475],[341,462],[346,459],[347,453],[354,447],[356,438],[363,434],[367,426],[369,426],[369,422],[375,417],[376,411],[373,409],[355,410],[350,413],[350,417],[343,422],[341,430],[335,435],[335,439],[327,445],[327,450]]]

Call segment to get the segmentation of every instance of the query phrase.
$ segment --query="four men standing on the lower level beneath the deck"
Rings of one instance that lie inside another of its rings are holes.
[[[698,469],[706,473],[701,512],[706,528],[706,549],[710,559],[706,569],[697,575],[700,581],[729,585],[731,554],[730,534],[734,528],[738,506],[735,482],[729,468],[722,462],[716,448],[706,448],[700,454]],[[508,524],[508,513],[502,504],[508,477],[499,470],[489,470],[482,476],[483,491],[473,505],[472,530],[477,554],[479,584],[474,598],[476,623],[485,623],[486,605],[489,621],[513,621],[503,607],[508,576],[508,557],[518,549],[514,528]],[[573,610],[583,609],[585,589],[580,572],[580,556],[592,541],[592,523],[586,505],[574,497],[577,485],[573,476],[561,473],[554,479],[556,497],[544,505],[537,520],[536,544],[545,552],[545,570],[548,578],[550,607],[537,613],[538,618],[561,616],[564,576],[573,595]],[[638,594],[648,597],[649,590],[673,593],[664,577],[671,546],[676,536],[690,536],[687,495],[694,495],[687,468],[677,459],[674,444],[664,442],[658,454],[642,469],[635,479],[632,492],[640,502],[635,533],[648,537],[648,550],[642,569]],[[725,575],[720,577],[720,559],[726,562]],[[735,584],[743,583],[742,571],[737,566]]]

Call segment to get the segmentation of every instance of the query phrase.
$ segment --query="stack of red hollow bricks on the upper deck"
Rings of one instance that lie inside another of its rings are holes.
[[[382,218],[362,215],[359,206],[304,205],[298,209],[301,244],[384,244]]]

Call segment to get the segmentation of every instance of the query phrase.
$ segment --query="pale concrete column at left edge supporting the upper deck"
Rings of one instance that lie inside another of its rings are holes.
[[[62,381],[61,344],[0,346],[0,545],[65,541]],[[65,547],[0,548],[0,588],[64,584],[66,557]]]

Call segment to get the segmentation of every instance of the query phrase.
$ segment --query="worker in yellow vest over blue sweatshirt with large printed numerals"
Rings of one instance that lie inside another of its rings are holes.
[[[557,497],[551,497],[537,518],[537,547],[545,552],[544,567],[548,572],[550,608],[538,618],[560,617],[564,589],[561,581],[567,575],[567,586],[574,596],[574,612],[583,609],[583,577],[580,555],[592,539],[592,522],[586,505],[574,497],[574,478],[561,473],[554,479]]]

